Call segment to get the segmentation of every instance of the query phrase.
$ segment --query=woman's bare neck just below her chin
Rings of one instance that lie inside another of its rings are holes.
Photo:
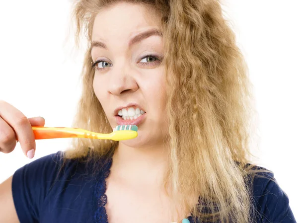
[[[119,142],[113,155],[114,176],[138,184],[160,186],[167,168],[168,149],[164,145],[131,148]]]

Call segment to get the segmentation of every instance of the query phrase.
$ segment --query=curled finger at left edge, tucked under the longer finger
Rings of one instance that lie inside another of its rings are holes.
[[[0,151],[9,153],[16,146],[15,133],[12,128],[0,118]]]

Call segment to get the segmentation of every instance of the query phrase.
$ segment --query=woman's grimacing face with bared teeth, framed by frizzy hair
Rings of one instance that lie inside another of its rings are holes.
[[[97,14],[92,33],[94,92],[110,125],[137,125],[129,147],[161,145],[166,136],[165,75],[158,16],[118,3]]]

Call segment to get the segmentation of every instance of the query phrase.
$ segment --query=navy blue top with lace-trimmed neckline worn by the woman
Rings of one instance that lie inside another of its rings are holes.
[[[44,156],[14,173],[12,196],[20,223],[108,223],[105,179],[112,159],[96,162],[100,168],[95,175],[91,165],[78,160],[59,171],[62,154]],[[296,223],[287,195],[275,182],[255,178],[253,196],[261,213],[257,223]]]

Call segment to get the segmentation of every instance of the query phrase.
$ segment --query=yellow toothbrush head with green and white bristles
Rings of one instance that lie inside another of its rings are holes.
[[[138,136],[138,126],[124,125],[116,126],[111,133],[111,140],[131,140]]]

